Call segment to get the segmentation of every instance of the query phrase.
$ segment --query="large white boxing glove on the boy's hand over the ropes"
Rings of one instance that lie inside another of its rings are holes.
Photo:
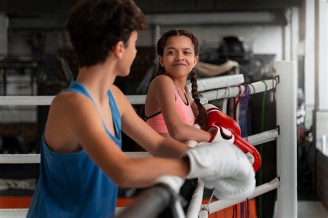
[[[199,143],[185,152],[190,161],[187,178],[200,177],[206,188],[215,188],[220,199],[249,197],[255,190],[255,172],[248,158],[235,145]]]

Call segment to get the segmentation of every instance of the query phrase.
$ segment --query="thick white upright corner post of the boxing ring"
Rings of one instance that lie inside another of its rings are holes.
[[[277,126],[277,217],[297,217],[296,100],[298,78],[294,62],[277,62],[280,84],[276,89]]]

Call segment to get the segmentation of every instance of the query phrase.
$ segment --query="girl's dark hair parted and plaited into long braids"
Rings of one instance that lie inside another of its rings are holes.
[[[192,44],[194,45],[194,55],[199,55],[199,44],[198,44],[198,39],[195,37],[192,33],[190,33],[188,30],[169,30],[166,33],[164,33],[161,37],[161,39],[158,40],[157,42],[157,55],[162,56],[164,54],[164,47],[166,45],[167,39],[172,37],[172,36],[179,36],[183,35],[185,37],[188,37],[191,39]],[[165,69],[161,64],[158,64],[158,71],[157,75],[164,74]],[[207,120],[207,113],[206,109],[201,105],[201,100],[200,100],[200,94],[198,93],[197,90],[197,73],[195,69],[192,69],[190,72],[190,82],[192,83],[192,98],[194,98],[194,102],[196,103],[198,107],[198,115],[196,116],[195,122],[198,123],[202,128],[205,127],[206,125],[206,120]]]

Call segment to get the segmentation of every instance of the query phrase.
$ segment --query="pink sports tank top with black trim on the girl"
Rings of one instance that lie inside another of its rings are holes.
[[[192,108],[188,98],[187,98],[188,102],[187,104],[185,104],[185,102],[183,102],[175,86],[174,86],[174,92],[175,92],[175,99],[176,99],[176,108],[179,111],[181,119],[183,120],[183,122],[185,122],[185,124],[194,125],[194,113],[192,112]],[[148,125],[158,133],[169,132],[165,124],[163,113],[161,111],[158,111],[157,113],[154,113],[152,116],[149,116],[148,118],[145,117],[145,118]]]

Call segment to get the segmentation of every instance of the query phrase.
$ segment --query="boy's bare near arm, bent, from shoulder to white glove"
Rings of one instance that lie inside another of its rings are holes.
[[[82,97],[84,98],[84,97]],[[98,110],[89,100],[64,102],[66,125],[78,144],[102,171],[121,187],[145,187],[163,175],[185,177],[189,163],[183,158],[129,158],[104,130]]]

